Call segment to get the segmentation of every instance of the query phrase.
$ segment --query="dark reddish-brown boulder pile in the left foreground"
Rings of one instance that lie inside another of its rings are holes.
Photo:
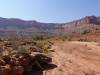
[[[52,62],[50,57],[43,54],[30,55],[27,53],[2,56],[0,60],[0,75],[23,75],[32,70],[44,70],[45,64]]]

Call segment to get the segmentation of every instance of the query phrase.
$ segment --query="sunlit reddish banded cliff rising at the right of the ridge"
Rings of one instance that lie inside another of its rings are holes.
[[[65,33],[79,34],[85,30],[92,31],[100,28],[100,17],[86,16],[80,20],[65,23],[63,25]]]

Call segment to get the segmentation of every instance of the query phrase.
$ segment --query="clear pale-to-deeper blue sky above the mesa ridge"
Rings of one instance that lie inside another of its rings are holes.
[[[0,0],[0,17],[62,23],[100,15],[100,0]]]

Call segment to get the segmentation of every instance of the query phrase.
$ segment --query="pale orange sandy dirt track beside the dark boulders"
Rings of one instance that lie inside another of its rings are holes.
[[[59,42],[52,46],[57,68],[43,75],[100,75],[100,44],[96,42]]]

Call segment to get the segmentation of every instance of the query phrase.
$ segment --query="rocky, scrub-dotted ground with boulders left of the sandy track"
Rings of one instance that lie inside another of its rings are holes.
[[[0,53],[0,75],[30,75],[35,71],[42,72],[49,69],[52,58],[49,54],[43,53],[45,51],[43,48],[49,49],[51,46],[46,45],[48,48],[42,48],[45,44],[40,45],[34,41],[2,40],[0,42],[0,48],[3,49]]]

